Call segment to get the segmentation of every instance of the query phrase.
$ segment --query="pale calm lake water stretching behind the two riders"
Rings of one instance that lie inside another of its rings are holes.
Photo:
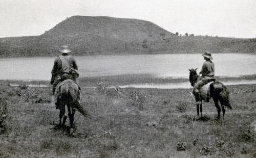
[[[256,56],[213,54],[216,76],[256,74]],[[201,54],[98,55],[74,57],[80,77],[148,73],[156,77],[187,78],[188,68],[201,70]],[[0,59],[0,80],[45,80],[51,78],[53,57]]]

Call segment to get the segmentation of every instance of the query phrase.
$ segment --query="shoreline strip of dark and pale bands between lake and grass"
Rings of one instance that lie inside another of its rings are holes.
[[[251,81],[256,80],[255,75],[244,75],[238,77],[228,77],[228,76],[217,76],[217,81],[224,83],[236,83],[239,81],[245,81],[242,84],[235,85],[253,85],[247,84]],[[99,76],[99,77],[82,77],[79,78],[79,84],[81,87],[85,88],[93,88],[99,82],[108,83],[110,88],[114,86],[120,86],[123,88],[134,88],[131,86],[143,87],[143,85],[147,85],[148,87],[162,87],[164,85],[179,85],[179,84],[188,84],[188,78],[158,78],[150,74],[125,74],[125,75],[114,75],[114,76]],[[10,86],[18,86],[18,85],[30,85],[31,87],[51,87],[50,81],[23,81],[23,80],[0,80],[1,85],[10,85]],[[231,84],[232,85],[232,84]],[[187,86],[186,86],[187,87]],[[158,89],[158,88],[149,88],[149,89]],[[161,89],[161,88],[159,88]],[[168,88],[166,88],[168,89]],[[170,89],[189,89],[189,88],[170,88]]]

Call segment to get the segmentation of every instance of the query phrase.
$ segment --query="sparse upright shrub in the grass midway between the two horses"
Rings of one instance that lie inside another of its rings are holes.
[[[130,93],[129,98],[129,103],[132,104],[132,106],[138,107],[139,110],[143,110],[144,103],[146,101],[146,94],[141,94],[135,91]]]

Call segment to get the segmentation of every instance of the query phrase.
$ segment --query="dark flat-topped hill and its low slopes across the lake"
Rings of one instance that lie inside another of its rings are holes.
[[[0,38],[0,56],[56,56],[63,44],[75,55],[256,52],[256,39],[180,37],[144,20],[72,16],[40,36]]]

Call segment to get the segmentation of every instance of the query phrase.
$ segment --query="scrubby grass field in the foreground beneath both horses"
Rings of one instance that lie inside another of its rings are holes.
[[[228,86],[233,110],[219,121],[212,101],[203,105],[202,118],[196,116],[191,89],[100,92],[81,85],[81,104],[92,118],[76,112],[70,137],[69,121],[64,131],[57,127],[50,87],[2,82],[8,116],[0,157],[256,157],[256,85]],[[131,94],[145,94],[143,104]]]

